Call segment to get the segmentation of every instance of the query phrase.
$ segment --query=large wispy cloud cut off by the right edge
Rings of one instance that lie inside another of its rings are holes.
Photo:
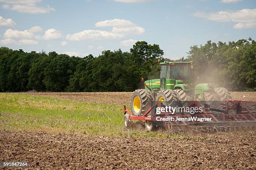
[[[216,13],[197,12],[195,17],[205,18],[215,22],[233,22],[237,23],[233,28],[256,28],[256,8],[242,9],[238,11],[219,11]]]

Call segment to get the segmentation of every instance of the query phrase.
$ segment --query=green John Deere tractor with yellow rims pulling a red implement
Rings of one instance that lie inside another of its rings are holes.
[[[131,109],[133,115],[143,115],[152,106],[152,101],[179,102],[187,107],[185,101],[200,101],[210,104],[212,101],[225,101],[231,98],[230,92],[223,87],[213,88],[211,84],[197,84],[191,72],[193,62],[160,62],[160,79],[143,81],[145,89],[133,92]]]

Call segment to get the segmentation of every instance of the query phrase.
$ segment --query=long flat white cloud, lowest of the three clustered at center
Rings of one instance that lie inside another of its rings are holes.
[[[83,30],[82,32],[77,32],[74,34],[68,34],[68,40],[101,40],[101,39],[119,39],[122,38],[123,35],[116,34],[108,31],[101,31],[101,30]]]

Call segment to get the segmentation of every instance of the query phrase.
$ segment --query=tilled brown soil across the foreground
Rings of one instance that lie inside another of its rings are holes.
[[[255,169],[256,133],[105,138],[0,131],[0,162],[29,169]]]

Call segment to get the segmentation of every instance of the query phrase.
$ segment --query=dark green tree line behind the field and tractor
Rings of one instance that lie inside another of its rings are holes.
[[[105,50],[98,57],[70,57],[56,52],[24,52],[0,47],[0,91],[105,92],[141,88],[141,77],[159,78],[159,45],[136,42],[130,52]],[[190,47],[193,77],[231,90],[254,88],[256,42],[211,42]],[[182,60],[182,59],[181,59]],[[210,77],[210,78],[209,78]]]

